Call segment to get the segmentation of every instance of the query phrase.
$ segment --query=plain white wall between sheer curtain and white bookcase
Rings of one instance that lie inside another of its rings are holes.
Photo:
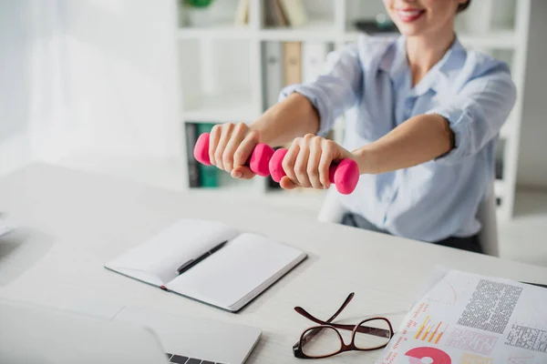
[[[176,1],[64,1],[67,73],[80,147],[179,153]]]

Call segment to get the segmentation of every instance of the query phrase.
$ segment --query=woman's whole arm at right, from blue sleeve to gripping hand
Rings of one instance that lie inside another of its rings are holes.
[[[281,180],[284,188],[329,187],[328,167],[343,158],[356,160],[361,174],[379,174],[435,160],[455,164],[476,155],[501,129],[516,99],[505,64],[476,75],[448,104],[413,116],[387,135],[348,151],[331,140],[306,135],[294,139],[294,153],[284,170],[297,178]]]

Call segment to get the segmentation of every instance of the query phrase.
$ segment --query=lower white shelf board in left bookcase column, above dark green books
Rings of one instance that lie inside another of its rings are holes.
[[[259,113],[249,94],[225,93],[222,96],[201,97],[198,105],[185,107],[182,115],[185,121],[226,123],[251,121]]]

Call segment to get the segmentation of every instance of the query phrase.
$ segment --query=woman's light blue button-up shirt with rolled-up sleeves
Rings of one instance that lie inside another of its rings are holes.
[[[285,87],[306,96],[318,111],[325,136],[346,113],[344,147],[355,150],[386,135],[411,116],[439,114],[449,121],[455,147],[416,167],[361,175],[351,195],[339,195],[350,211],[391,234],[436,242],[480,231],[480,201],[494,178],[495,144],[511,112],[516,89],[507,64],[466,50],[456,39],[416,86],[406,38],[361,37],[329,54],[325,71]]]

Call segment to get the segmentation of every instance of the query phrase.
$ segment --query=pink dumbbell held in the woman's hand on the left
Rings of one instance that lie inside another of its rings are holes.
[[[211,160],[209,159],[209,133],[203,133],[196,141],[194,147],[194,158],[201,164],[211,166]],[[274,155],[274,148],[266,144],[257,144],[253,149],[253,154],[245,163],[245,166],[250,167],[251,170],[258,176],[266,177],[270,176],[270,158]]]

